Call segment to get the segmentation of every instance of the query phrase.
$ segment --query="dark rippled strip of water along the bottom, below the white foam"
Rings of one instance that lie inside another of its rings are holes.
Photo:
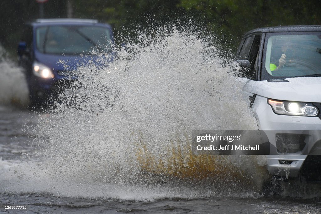
[[[122,201],[112,199],[57,198],[26,194],[1,195],[2,204],[27,206],[24,211],[3,213],[320,213],[319,200],[284,198],[242,199],[164,198],[157,201]]]

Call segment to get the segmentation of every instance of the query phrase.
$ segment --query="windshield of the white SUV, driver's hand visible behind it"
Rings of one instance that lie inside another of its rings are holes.
[[[321,33],[269,33],[264,49],[263,80],[321,76]]]

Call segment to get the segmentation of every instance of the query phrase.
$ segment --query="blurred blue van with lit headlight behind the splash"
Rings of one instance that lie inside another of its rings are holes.
[[[57,97],[77,78],[72,71],[80,65],[108,65],[113,44],[110,25],[97,20],[38,19],[26,24],[18,56],[31,104],[46,105]]]

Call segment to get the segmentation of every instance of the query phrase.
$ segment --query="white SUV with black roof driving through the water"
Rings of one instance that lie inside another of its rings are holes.
[[[276,150],[269,172],[321,181],[321,26],[251,30],[237,58],[249,107]]]

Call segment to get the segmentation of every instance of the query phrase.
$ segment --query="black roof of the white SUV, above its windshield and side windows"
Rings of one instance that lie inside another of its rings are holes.
[[[246,35],[251,33],[270,33],[270,32],[314,32],[321,31],[321,25],[292,25],[292,26],[276,26],[276,27],[266,27],[257,28],[248,31]]]

